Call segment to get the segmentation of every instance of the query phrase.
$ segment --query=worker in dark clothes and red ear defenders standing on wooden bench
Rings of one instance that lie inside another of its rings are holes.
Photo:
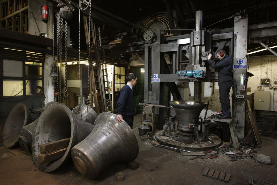
[[[226,55],[226,51],[220,49],[216,53],[220,59],[215,63],[212,58],[212,54],[208,56],[208,62],[214,69],[218,69],[218,86],[219,86],[219,100],[221,103],[221,114],[217,117],[220,119],[231,119],[231,106],[230,106],[230,89],[233,85],[233,62],[231,58]]]

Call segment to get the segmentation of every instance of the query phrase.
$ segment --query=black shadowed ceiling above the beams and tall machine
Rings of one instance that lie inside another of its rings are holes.
[[[207,30],[224,29],[234,26],[234,18],[227,19],[237,12],[245,10],[248,14],[248,24],[267,23],[277,21],[276,0],[94,0],[93,5],[110,12],[120,18],[129,21],[139,27],[144,26],[143,22],[157,12],[166,12],[166,4],[173,10],[173,16],[177,21],[179,29],[194,29],[194,16],[198,10],[203,11],[203,28]],[[78,22],[78,15],[73,18],[74,24]],[[223,19],[226,19],[222,21]],[[72,26],[71,21],[71,26]],[[217,23],[218,22],[218,23]],[[214,24],[216,23],[216,24]],[[81,21],[81,24],[82,21]],[[77,34],[76,26],[73,26],[72,34]],[[106,35],[111,36],[115,30],[106,26]],[[191,30],[184,30],[181,34],[190,33]],[[84,39],[84,36],[81,36]],[[76,40],[76,39],[73,39]],[[110,40],[111,41],[111,40]],[[77,43],[77,41],[74,41]],[[277,42],[277,38],[265,38],[263,42]],[[77,46],[75,46],[77,47]],[[85,49],[85,44],[82,46]],[[261,47],[257,43],[251,43],[251,48]],[[263,48],[263,47],[262,47]],[[276,51],[277,48],[274,48]],[[259,55],[268,54],[268,51],[259,52]],[[255,54],[257,55],[257,54]]]

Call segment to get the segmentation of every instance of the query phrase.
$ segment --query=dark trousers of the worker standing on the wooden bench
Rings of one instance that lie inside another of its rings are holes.
[[[221,103],[221,113],[225,116],[231,116],[230,106],[230,89],[233,82],[224,82],[218,84],[219,86],[219,100]]]

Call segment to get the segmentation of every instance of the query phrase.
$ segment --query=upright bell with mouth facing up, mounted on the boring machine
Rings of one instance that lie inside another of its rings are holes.
[[[199,115],[207,103],[195,101],[170,101],[169,103],[176,112],[178,130],[184,135],[193,135],[194,130],[192,127],[189,128],[189,125],[198,125]]]

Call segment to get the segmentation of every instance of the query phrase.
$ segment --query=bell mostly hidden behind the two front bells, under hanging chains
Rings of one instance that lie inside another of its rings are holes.
[[[77,120],[94,124],[97,113],[88,105],[79,104],[73,110],[73,115]]]

